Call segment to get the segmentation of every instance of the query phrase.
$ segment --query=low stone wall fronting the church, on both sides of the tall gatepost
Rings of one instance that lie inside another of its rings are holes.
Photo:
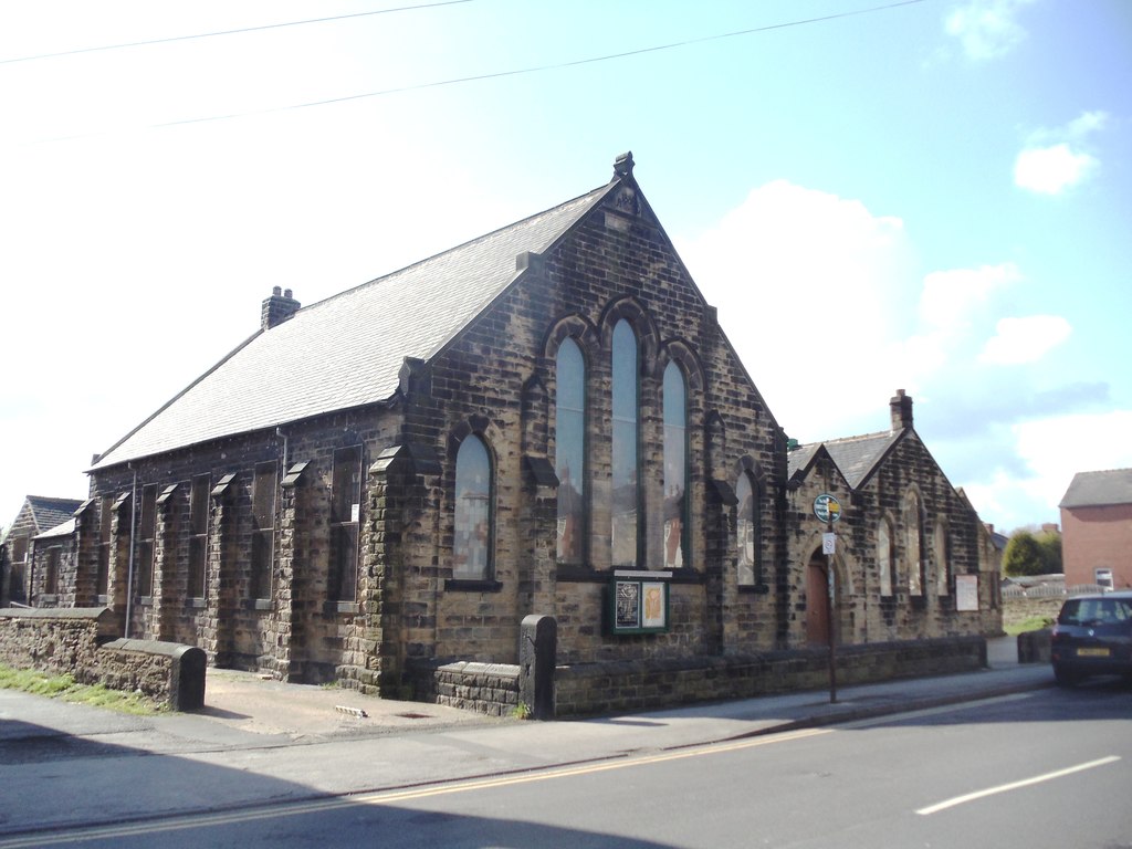
[[[841,646],[838,686],[981,669],[987,664],[986,652],[986,640],[980,636]],[[418,661],[409,670],[417,701],[495,717],[507,715],[518,705],[518,676],[517,666],[505,663]],[[555,670],[555,715],[654,710],[822,689],[829,681],[825,649],[559,666]]]

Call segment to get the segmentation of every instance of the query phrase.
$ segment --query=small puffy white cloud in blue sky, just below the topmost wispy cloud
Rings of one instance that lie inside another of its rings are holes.
[[[1107,123],[1107,112],[1082,112],[1064,127],[1038,130],[1014,160],[1014,185],[1041,195],[1060,195],[1084,182],[1100,162],[1082,148],[1089,136]]]

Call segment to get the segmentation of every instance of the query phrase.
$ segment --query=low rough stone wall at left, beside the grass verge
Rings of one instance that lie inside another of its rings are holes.
[[[0,663],[79,684],[140,691],[175,711],[204,706],[207,657],[153,640],[115,640],[106,608],[0,609]]]

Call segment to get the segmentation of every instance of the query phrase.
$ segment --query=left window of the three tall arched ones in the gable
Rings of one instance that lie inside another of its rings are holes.
[[[555,472],[558,475],[558,561],[581,564],[585,538],[585,360],[572,338],[558,346]]]

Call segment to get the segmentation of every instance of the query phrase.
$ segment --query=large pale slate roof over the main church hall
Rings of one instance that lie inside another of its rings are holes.
[[[405,357],[439,353],[619,180],[297,311],[252,335],[93,469],[388,401]]]

